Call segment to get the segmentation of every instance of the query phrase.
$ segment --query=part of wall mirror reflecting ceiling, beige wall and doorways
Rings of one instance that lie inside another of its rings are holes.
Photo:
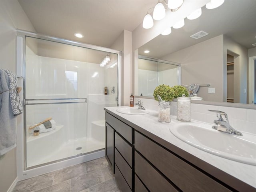
[[[212,10],[204,6],[199,18],[185,18],[182,28],[172,28],[167,36],[160,34],[141,46],[138,54],[180,63],[183,85],[210,84],[198,90],[204,101],[254,104],[255,10],[255,0],[226,0]],[[203,36],[205,32],[208,35]],[[145,54],[145,50],[150,52]]]

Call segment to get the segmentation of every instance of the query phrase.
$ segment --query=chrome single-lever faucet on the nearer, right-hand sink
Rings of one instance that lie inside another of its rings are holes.
[[[222,132],[226,132],[229,134],[233,134],[233,135],[238,135],[238,136],[243,135],[241,132],[232,128],[232,126],[229,124],[229,121],[228,121],[228,115],[225,112],[216,111],[216,110],[208,110],[208,111],[217,113],[218,119],[213,121],[214,124],[216,124],[216,125],[212,126],[213,129],[216,129],[216,130],[222,131]]]

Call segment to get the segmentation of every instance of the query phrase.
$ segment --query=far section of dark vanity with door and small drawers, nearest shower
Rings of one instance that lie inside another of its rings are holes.
[[[105,113],[106,159],[112,167],[116,182],[122,192],[134,191],[134,130],[114,116]],[[112,158],[113,152],[113,158]]]

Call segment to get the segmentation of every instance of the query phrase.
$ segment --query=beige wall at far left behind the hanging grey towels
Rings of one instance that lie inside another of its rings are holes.
[[[0,0],[0,26],[0,68],[16,72],[16,28],[34,28],[17,0]],[[6,192],[17,177],[16,148],[0,157],[0,173],[0,191]]]

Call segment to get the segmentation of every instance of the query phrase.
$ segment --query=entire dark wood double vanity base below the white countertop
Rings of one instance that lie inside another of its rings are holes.
[[[256,192],[256,188],[105,110],[106,159],[122,192]]]

